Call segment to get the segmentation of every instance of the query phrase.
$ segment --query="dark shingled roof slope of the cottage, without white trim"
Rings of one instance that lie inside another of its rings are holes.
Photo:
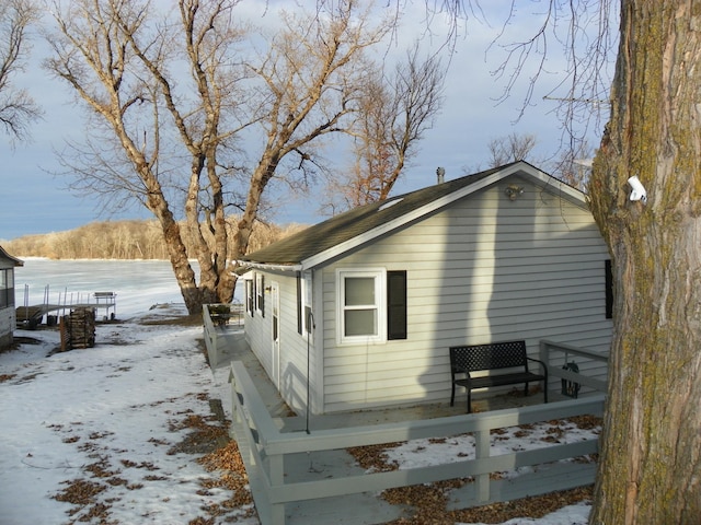
[[[516,164],[516,163],[513,163]],[[260,265],[298,265],[345,241],[349,241],[389,221],[398,219],[436,199],[474,184],[512,164],[436,184],[381,202],[355,208],[324,222],[290,235],[265,248],[253,252],[241,260]],[[398,201],[392,206],[389,203]]]

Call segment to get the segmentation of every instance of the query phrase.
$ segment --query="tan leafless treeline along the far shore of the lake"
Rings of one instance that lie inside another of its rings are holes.
[[[183,233],[186,232],[181,224]],[[258,224],[253,230],[250,252],[267,246],[304,225]],[[233,231],[233,226],[232,226]],[[66,232],[25,235],[3,241],[2,247],[15,257],[50,259],[168,259],[168,247],[157,221],[91,222]]]

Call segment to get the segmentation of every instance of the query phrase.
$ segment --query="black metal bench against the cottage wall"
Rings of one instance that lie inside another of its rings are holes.
[[[540,363],[543,373],[529,372],[528,361]],[[491,373],[495,370],[505,371],[506,369],[510,370],[505,373]],[[474,377],[473,372],[490,372],[490,374]],[[458,374],[464,374],[464,378],[456,377]],[[452,407],[456,400],[456,385],[463,386],[468,389],[468,413],[472,411],[472,390],[490,386],[524,383],[526,385],[525,395],[528,395],[529,383],[544,381],[543,393],[545,402],[548,402],[548,368],[542,361],[527,355],[526,341],[450,347],[450,378],[452,383],[450,406]]]

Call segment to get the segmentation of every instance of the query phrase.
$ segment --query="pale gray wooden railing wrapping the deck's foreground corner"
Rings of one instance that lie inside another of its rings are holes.
[[[483,413],[470,413],[429,420],[368,427],[283,432],[269,416],[245,366],[233,362],[230,372],[232,398],[232,433],[246,471],[258,516],[263,525],[284,525],[290,509],[307,500],[377,492],[395,487],[473,477],[459,494],[460,506],[468,508],[495,501],[581,487],[594,482],[596,466],[562,462],[598,452],[598,440],[554,444],[545,448],[491,455],[490,432],[519,424],[564,419],[581,415],[599,416],[604,395]],[[421,468],[324,477],[318,481],[296,481],[287,471],[298,454],[343,451],[348,447],[384,444],[415,439],[447,438],[472,433],[474,459]],[[561,463],[556,463],[561,462]],[[553,464],[551,468],[510,479],[492,479],[492,472],[517,467]],[[286,512],[286,505],[287,512]],[[289,517],[289,516],[288,516]],[[347,520],[344,523],[352,523]]]

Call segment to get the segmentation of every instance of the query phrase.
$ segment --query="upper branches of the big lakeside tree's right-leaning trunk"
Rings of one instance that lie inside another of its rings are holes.
[[[355,2],[324,4],[332,22],[320,31],[315,18],[288,15],[286,31],[279,33],[263,63],[252,67],[269,93],[266,118],[260,124],[265,135],[263,150],[252,177],[252,187],[268,184],[286,156],[294,159],[288,170],[304,180],[323,170],[319,139],[331,132],[349,132],[354,115],[363,114],[368,62],[364,50],[384,38],[391,21],[372,24],[369,10],[357,13]],[[249,194],[246,208],[260,205]],[[244,215],[237,235],[246,235],[254,215]]]

